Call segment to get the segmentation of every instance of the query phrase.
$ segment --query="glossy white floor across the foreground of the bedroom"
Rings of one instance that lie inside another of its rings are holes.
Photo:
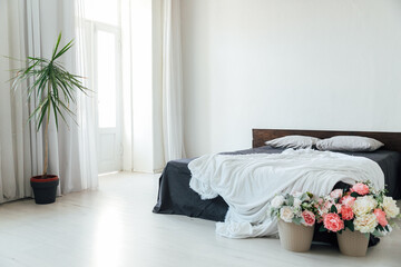
[[[157,189],[158,175],[123,172],[52,205],[0,205],[0,267],[401,266],[400,229],[364,258],[317,245],[295,254],[277,239],[226,239],[213,221],[153,214]]]

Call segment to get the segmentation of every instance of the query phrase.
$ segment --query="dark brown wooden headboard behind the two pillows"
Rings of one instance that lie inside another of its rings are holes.
[[[384,131],[325,131],[325,130],[282,130],[282,129],[253,129],[252,147],[265,146],[265,141],[274,138],[300,135],[312,136],[317,138],[329,138],[333,136],[364,136],[374,138],[384,144],[388,150],[401,152],[401,132],[384,132]]]

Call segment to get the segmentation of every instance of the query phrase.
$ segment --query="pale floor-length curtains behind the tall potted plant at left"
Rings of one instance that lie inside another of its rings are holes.
[[[82,68],[82,40],[79,32],[80,1],[69,0],[0,0],[0,53],[25,59],[27,55],[49,57],[57,36],[62,31],[62,43],[70,39],[76,46],[62,59],[66,68],[85,76]],[[79,12],[77,12],[79,11]],[[36,131],[35,122],[27,123],[32,101],[27,103],[22,90],[10,95],[10,78],[3,70],[19,68],[18,61],[1,60],[0,75],[0,201],[31,196],[29,178],[42,172],[42,129]],[[19,62],[21,65],[21,62]],[[60,177],[59,194],[96,189],[96,135],[94,127],[94,98],[77,96],[76,125],[55,121],[49,126],[49,174]]]

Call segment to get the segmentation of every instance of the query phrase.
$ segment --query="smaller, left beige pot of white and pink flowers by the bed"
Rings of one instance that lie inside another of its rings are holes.
[[[270,216],[278,218],[278,235],[283,248],[296,253],[311,248],[315,205],[310,192],[275,196],[270,202]]]

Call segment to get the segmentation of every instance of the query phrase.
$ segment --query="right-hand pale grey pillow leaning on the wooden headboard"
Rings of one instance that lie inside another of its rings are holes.
[[[319,150],[332,151],[374,151],[384,146],[384,144],[369,137],[360,136],[335,136],[320,140],[316,144]]]

